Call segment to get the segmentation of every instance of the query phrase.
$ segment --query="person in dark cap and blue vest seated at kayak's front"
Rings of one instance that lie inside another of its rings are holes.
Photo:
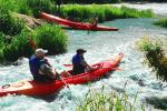
[[[84,53],[87,52],[86,50],[84,49],[77,49],[76,51],[77,53],[72,57],[72,75],[76,75],[76,74],[79,74],[79,73],[85,73],[86,72],[86,69],[88,71],[94,71],[96,70],[97,68],[94,68],[94,67],[90,67],[85,58],[84,58]]]

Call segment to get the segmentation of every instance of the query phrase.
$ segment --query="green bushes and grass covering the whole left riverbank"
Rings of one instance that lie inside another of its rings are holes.
[[[0,0],[0,4],[1,63],[16,61],[20,57],[29,58],[35,51],[30,41],[38,48],[48,49],[49,54],[66,52],[68,37],[61,28],[19,14],[36,17],[40,11],[49,12],[53,6],[51,1],[33,0],[32,3],[29,0]]]

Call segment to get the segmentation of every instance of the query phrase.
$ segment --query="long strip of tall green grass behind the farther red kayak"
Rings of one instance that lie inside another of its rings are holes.
[[[97,11],[98,10],[98,11]],[[151,10],[138,11],[127,7],[111,7],[108,4],[67,4],[61,10],[63,18],[77,21],[89,21],[91,18],[98,17],[99,22],[120,18],[153,18],[155,14]]]

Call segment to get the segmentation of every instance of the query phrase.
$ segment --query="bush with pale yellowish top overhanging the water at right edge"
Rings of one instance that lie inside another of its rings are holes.
[[[145,53],[145,62],[156,72],[157,79],[167,81],[167,46],[159,39],[144,37],[137,42],[138,50]]]

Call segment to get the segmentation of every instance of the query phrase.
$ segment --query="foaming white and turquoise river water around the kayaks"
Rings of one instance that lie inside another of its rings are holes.
[[[126,93],[132,99],[138,92],[138,102],[148,104],[147,111],[157,111],[157,108],[165,107],[167,103],[163,100],[167,98],[167,83],[156,79],[151,69],[144,65],[144,54],[135,48],[136,41],[143,36],[154,38],[167,38],[165,28],[155,27],[153,22],[156,19],[118,19],[102,23],[104,26],[117,27],[117,32],[91,32],[67,30],[69,36],[68,52],[65,54],[48,57],[53,63],[71,63],[71,58],[77,48],[87,50],[85,54],[88,63],[96,63],[119,52],[125,53],[120,63],[122,71],[110,73],[109,78],[104,78],[92,82],[91,88],[100,89],[106,87],[106,91],[115,90]],[[32,79],[29,72],[28,59],[18,61],[20,65],[0,67],[0,85],[14,82],[22,79]],[[139,80],[144,87],[139,85]],[[125,89],[126,83],[126,89]],[[89,90],[89,84],[70,85],[70,89],[62,89],[59,93],[45,98],[27,95],[9,95],[0,99],[0,111],[75,111],[79,101],[82,101]],[[149,102],[148,102],[149,101]],[[150,105],[153,104],[153,105]],[[159,105],[158,105],[159,104]],[[163,107],[161,107],[163,105]],[[137,109],[140,111],[139,107]]]

